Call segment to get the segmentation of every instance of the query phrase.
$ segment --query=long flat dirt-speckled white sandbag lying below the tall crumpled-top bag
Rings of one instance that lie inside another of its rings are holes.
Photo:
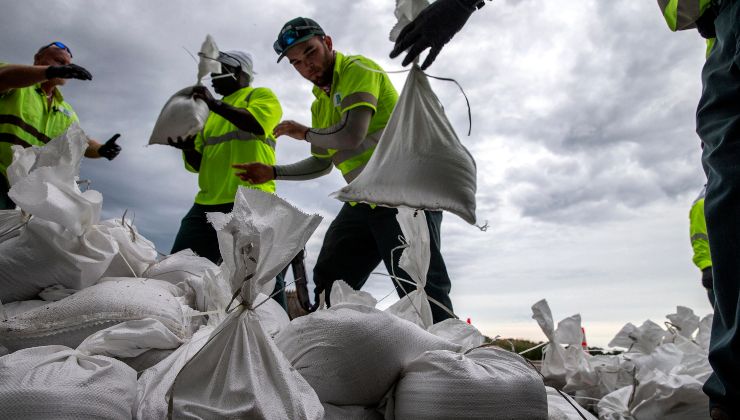
[[[180,293],[159,280],[111,279],[0,323],[0,345],[10,351],[51,344],[77,347],[96,331],[143,318],[160,321],[184,339],[189,330]]]

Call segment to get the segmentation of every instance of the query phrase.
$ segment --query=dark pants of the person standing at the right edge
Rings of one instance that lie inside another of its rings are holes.
[[[715,299],[709,345],[714,373],[704,392],[710,407],[740,418],[740,0],[722,2],[715,28],[697,109]]]

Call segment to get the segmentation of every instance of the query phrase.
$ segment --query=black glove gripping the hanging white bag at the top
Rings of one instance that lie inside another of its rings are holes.
[[[391,58],[408,50],[401,65],[408,65],[422,51],[430,48],[421,69],[429,67],[442,47],[465,25],[470,15],[483,6],[483,0],[437,0],[401,30]]]

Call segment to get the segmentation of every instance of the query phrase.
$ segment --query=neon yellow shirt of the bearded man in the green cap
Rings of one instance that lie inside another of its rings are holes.
[[[362,171],[388,124],[398,101],[396,88],[383,69],[369,58],[361,55],[345,56],[336,52],[329,95],[318,87],[314,87],[313,94],[316,97],[311,104],[313,128],[331,127],[341,121],[343,113],[353,108],[366,106],[373,110],[367,137],[357,149],[337,151],[311,148],[314,156],[331,158],[345,179],[351,175],[356,176],[351,173]]]

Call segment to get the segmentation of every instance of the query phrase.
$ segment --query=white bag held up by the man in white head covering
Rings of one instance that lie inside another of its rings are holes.
[[[220,73],[221,63],[218,58],[218,47],[210,35],[200,48],[198,63],[198,85],[208,73]],[[208,105],[200,99],[193,99],[193,86],[179,90],[164,104],[159,113],[154,130],[149,137],[149,144],[167,145],[167,139],[189,137],[198,134],[208,119]]]

